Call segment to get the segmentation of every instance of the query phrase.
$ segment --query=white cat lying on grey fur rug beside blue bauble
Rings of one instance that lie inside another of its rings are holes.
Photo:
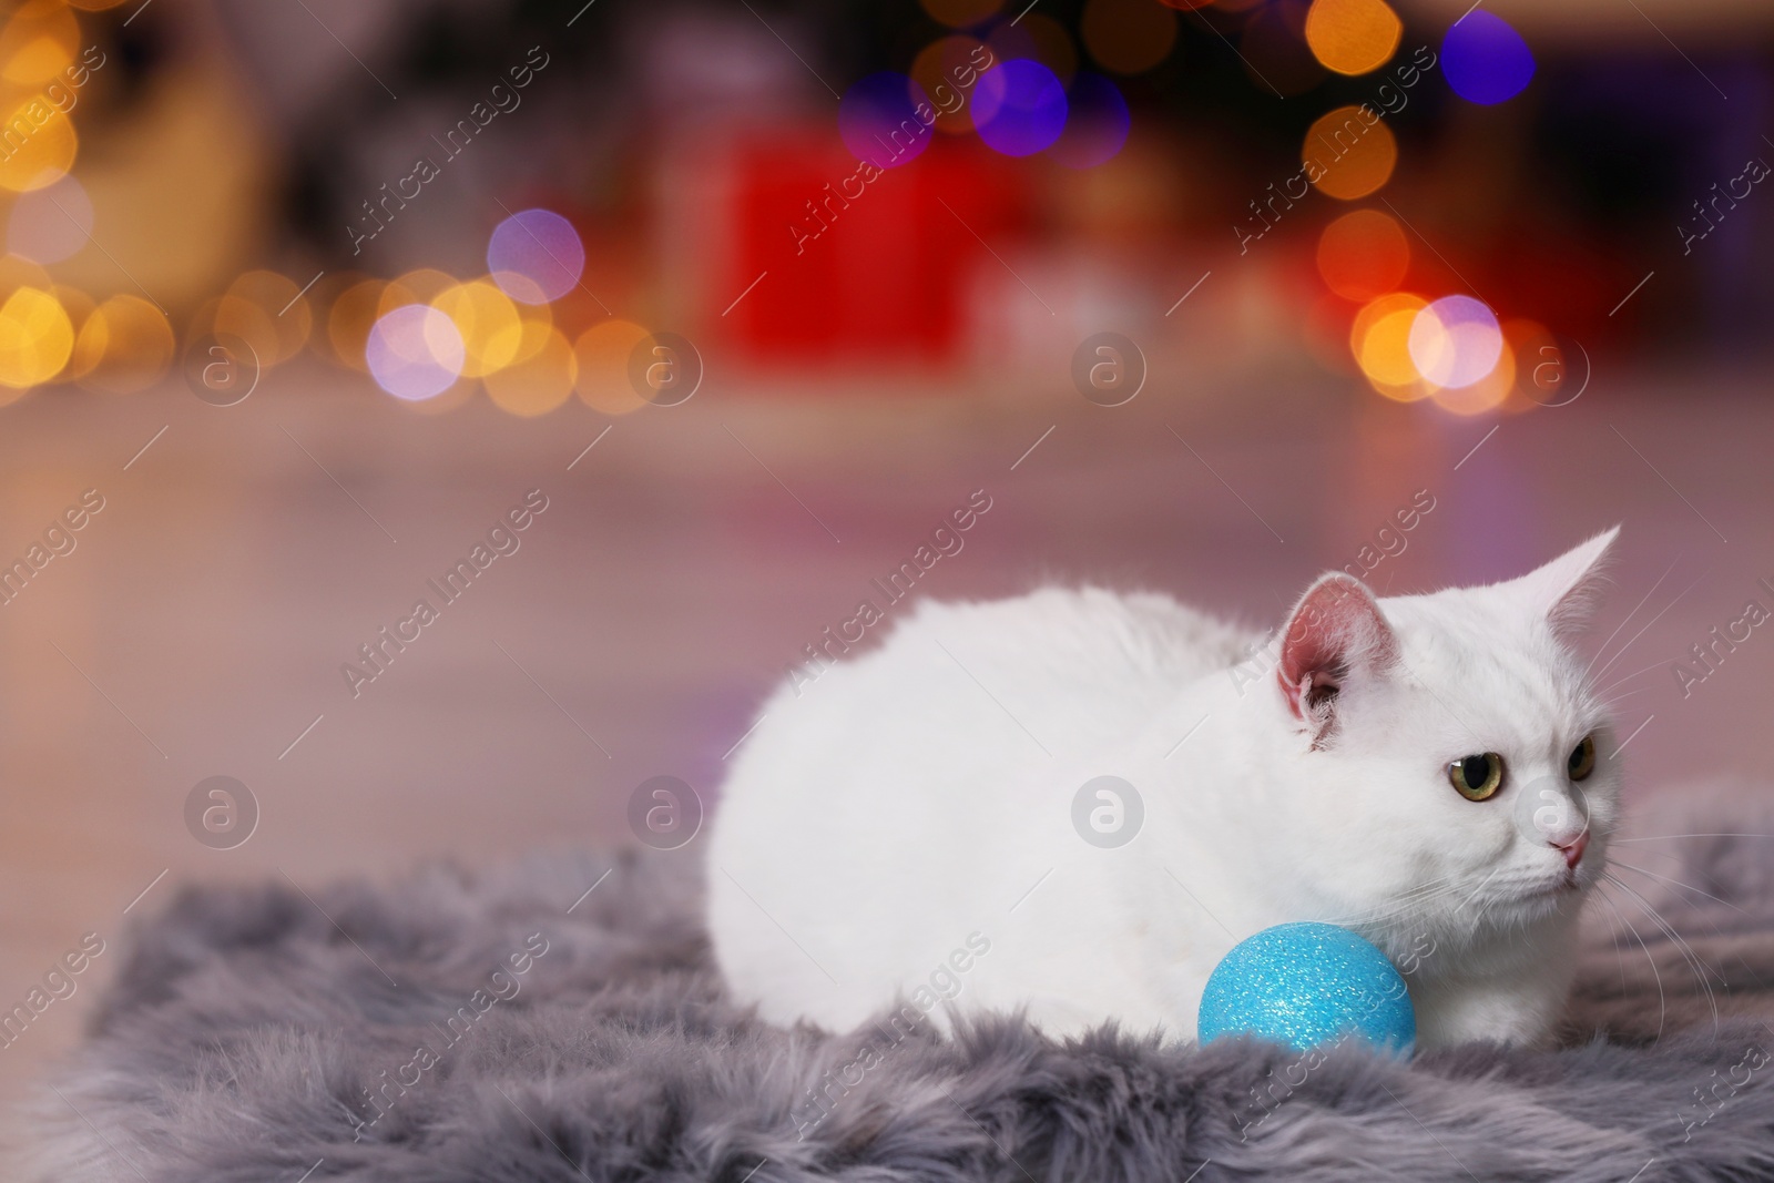
[[[1616,532],[1488,587],[1330,573],[1267,646],[1155,594],[926,601],[745,741],[720,968],[782,1023],[942,1004],[1192,1038],[1235,942],[1327,921],[1407,970],[1419,1046],[1545,1041],[1618,816],[1566,647]]]

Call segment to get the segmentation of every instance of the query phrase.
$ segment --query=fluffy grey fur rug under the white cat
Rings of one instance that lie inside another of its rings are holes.
[[[773,1030],[710,970],[694,846],[188,889],[135,933],[4,1174],[1774,1179],[1774,818],[1733,800],[1616,848],[1630,928],[1597,906],[1563,1050],[1341,1046],[1311,1071],[1261,1043],[1054,1043],[1017,1018]]]

